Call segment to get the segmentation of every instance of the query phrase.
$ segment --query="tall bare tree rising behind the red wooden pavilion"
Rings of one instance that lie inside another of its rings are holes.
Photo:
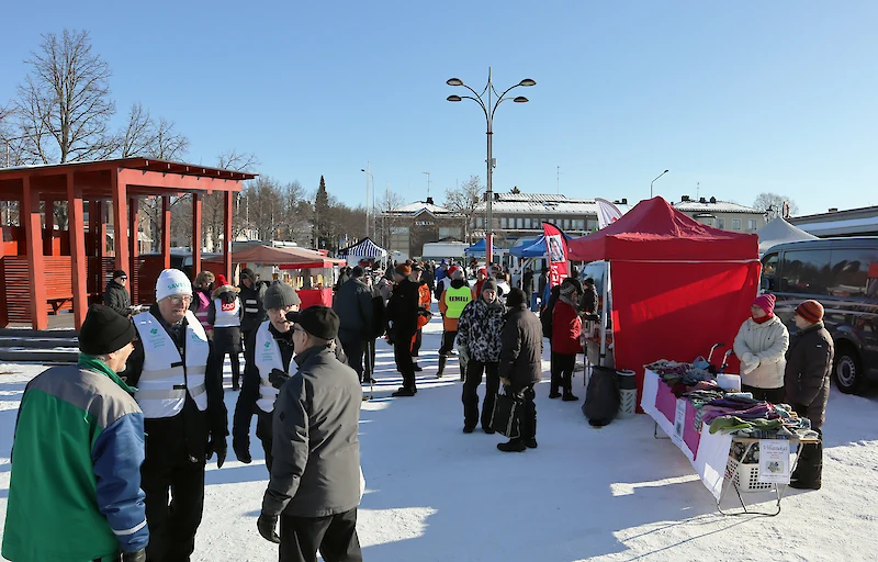
[[[89,33],[44,34],[25,65],[30,71],[15,101],[25,157],[54,164],[111,155],[116,137],[110,132],[110,65],[92,53]]]

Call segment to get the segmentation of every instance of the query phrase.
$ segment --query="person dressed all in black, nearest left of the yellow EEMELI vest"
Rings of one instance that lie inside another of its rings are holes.
[[[387,302],[387,334],[393,344],[396,369],[403,375],[403,386],[393,396],[414,396],[415,363],[412,362],[412,338],[418,331],[418,284],[410,281],[412,268],[405,263],[396,266],[396,286]]]

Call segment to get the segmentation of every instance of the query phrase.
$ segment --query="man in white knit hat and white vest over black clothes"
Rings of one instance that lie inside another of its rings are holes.
[[[134,400],[144,413],[150,562],[189,560],[204,510],[205,463],[215,452],[222,468],[226,458],[223,366],[191,303],[189,278],[166,269],[156,303],[133,318],[138,339],[126,382],[137,389]]]

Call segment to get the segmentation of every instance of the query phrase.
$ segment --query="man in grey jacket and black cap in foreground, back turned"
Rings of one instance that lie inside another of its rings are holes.
[[[360,384],[331,350],[339,325],[331,308],[311,306],[291,316],[299,372],[274,403],[274,462],[257,528],[280,544],[281,561],[311,562],[318,550],[327,561],[362,561]]]

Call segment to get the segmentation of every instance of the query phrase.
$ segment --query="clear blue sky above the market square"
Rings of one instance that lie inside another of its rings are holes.
[[[257,171],[365,201],[485,180],[485,120],[448,103],[488,66],[527,104],[494,125],[494,189],[637,201],[682,194],[800,214],[878,204],[878,2],[23,2],[2,9],[0,101],[40,34],[87,29],[133,102],[177,123],[188,160],[256,153]]]

